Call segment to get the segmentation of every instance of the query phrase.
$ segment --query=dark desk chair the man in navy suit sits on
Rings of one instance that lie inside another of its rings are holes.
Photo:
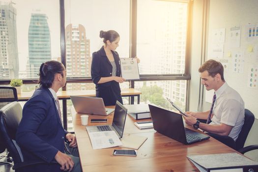
[[[15,135],[18,125],[22,119],[22,107],[18,102],[11,102],[0,110],[0,134],[5,141],[10,156],[13,159],[15,172],[24,172],[26,166],[46,163],[42,162],[25,162],[19,145],[15,142]],[[51,162],[57,164],[57,162]]]

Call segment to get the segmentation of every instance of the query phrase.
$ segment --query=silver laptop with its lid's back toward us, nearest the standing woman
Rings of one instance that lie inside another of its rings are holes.
[[[74,109],[77,113],[91,115],[110,115],[114,112],[114,109],[105,108],[102,98],[84,96],[70,97],[73,102]]]

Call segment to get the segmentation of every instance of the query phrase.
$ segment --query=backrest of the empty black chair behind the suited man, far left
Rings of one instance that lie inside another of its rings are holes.
[[[14,101],[18,102],[16,88],[12,86],[0,86],[0,108]]]

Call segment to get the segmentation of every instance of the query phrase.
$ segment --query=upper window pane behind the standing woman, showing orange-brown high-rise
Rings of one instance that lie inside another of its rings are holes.
[[[90,77],[92,53],[103,40],[100,30],[120,35],[120,57],[129,57],[130,0],[65,0],[65,44],[68,77]]]

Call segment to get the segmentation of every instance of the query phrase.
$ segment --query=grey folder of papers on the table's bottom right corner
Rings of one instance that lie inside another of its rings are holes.
[[[243,172],[246,169],[258,169],[258,162],[238,153],[189,155],[187,157],[200,172]]]

